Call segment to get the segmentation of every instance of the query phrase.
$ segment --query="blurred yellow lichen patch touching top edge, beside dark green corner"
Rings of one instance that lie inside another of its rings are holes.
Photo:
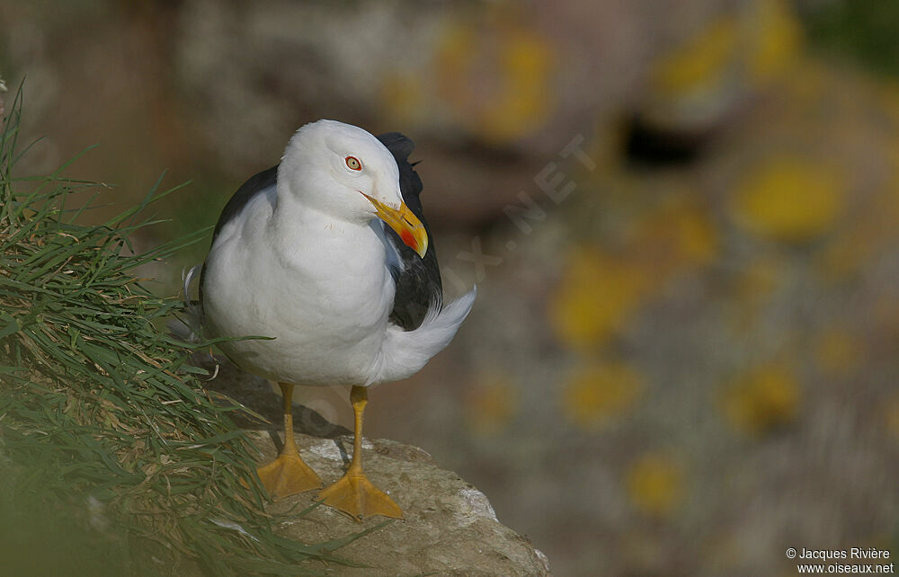
[[[756,83],[781,75],[797,60],[799,22],[784,0],[752,3],[752,43],[749,73]]]

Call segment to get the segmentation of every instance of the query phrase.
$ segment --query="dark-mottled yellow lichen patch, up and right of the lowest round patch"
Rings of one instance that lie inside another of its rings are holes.
[[[788,424],[799,409],[799,383],[792,368],[773,364],[739,378],[724,398],[724,411],[735,429],[762,435]]]

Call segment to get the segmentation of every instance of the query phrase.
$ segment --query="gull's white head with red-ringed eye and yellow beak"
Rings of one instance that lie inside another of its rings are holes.
[[[358,224],[379,217],[422,257],[427,251],[424,226],[403,202],[394,156],[366,130],[336,120],[303,126],[284,151],[278,182],[279,191],[331,217]]]

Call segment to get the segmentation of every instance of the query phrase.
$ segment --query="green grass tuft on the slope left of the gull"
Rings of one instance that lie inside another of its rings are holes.
[[[129,235],[164,198],[98,226],[73,192],[102,185],[17,178],[20,88],[0,133],[0,559],[6,574],[317,574],[340,541],[274,534],[254,448],[188,364],[209,343],[160,331],[182,314],[136,277],[200,241],[147,252]],[[158,186],[158,183],[157,183]],[[245,486],[242,479],[254,481]]]

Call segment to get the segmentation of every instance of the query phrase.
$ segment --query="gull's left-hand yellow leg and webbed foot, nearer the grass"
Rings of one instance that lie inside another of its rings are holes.
[[[312,491],[322,486],[321,478],[299,457],[297,442],[293,439],[293,385],[278,385],[284,396],[284,447],[278,458],[256,469],[265,490],[275,498]]]

